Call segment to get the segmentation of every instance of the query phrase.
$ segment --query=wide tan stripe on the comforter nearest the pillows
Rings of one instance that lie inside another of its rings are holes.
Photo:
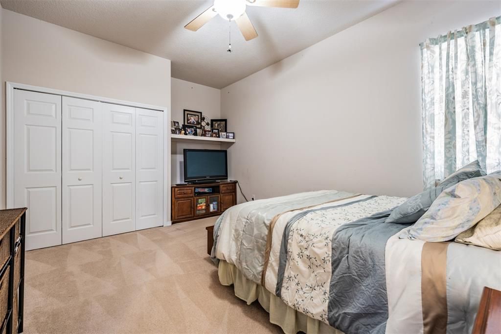
[[[447,246],[449,242],[426,242],[421,253],[421,300],[424,334],[446,333]]]

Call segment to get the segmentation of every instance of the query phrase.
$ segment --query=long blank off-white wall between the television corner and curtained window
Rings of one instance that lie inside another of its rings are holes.
[[[419,43],[501,2],[403,2],[221,90],[229,171],[249,197],[422,190]]]

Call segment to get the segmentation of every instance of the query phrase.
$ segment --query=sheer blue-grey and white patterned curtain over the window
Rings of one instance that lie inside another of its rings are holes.
[[[421,43],[424,188],[478,159],[501,170],[501,17]]]

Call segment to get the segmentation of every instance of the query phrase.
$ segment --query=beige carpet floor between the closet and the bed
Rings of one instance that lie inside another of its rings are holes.
[[[215,218],[27,252],[25,333],[279,333],[222,286]]]

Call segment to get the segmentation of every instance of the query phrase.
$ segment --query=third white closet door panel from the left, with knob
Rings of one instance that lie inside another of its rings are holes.
[[[136,213],[135,109],[102,103],[103,236],[134,231]]]

